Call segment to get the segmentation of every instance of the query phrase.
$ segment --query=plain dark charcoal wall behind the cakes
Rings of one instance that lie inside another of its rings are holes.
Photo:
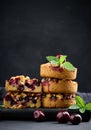
[[[91,92],[89,0],[0,2],[0,86],[13,75],[40,79],[47,55],[66,54],[79,91]]]

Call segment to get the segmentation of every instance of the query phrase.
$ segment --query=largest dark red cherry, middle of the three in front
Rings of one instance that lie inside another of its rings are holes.
[[[67,123],[70,119],[70,114],[67,111],[60,111],[56,115],[56,120],[59,123]]]

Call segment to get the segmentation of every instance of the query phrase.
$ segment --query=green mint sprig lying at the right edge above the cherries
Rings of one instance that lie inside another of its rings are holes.
[[[91,110],[91,102],[85,104],[84,100],[80,96],[75,96],[76,104],[69,107],[69,109],[79,109],[81,113],[84,113],[86,110]]]

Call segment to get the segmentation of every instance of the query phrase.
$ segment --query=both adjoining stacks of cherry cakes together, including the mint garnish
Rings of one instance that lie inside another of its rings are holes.
[[[49,62],[40,65],[41,82],[23,75],[6,80],[6,108],[67,108],[76,103],[78,83],[74,80],[77,68],[66,60],[65,55],[46,58]]]

